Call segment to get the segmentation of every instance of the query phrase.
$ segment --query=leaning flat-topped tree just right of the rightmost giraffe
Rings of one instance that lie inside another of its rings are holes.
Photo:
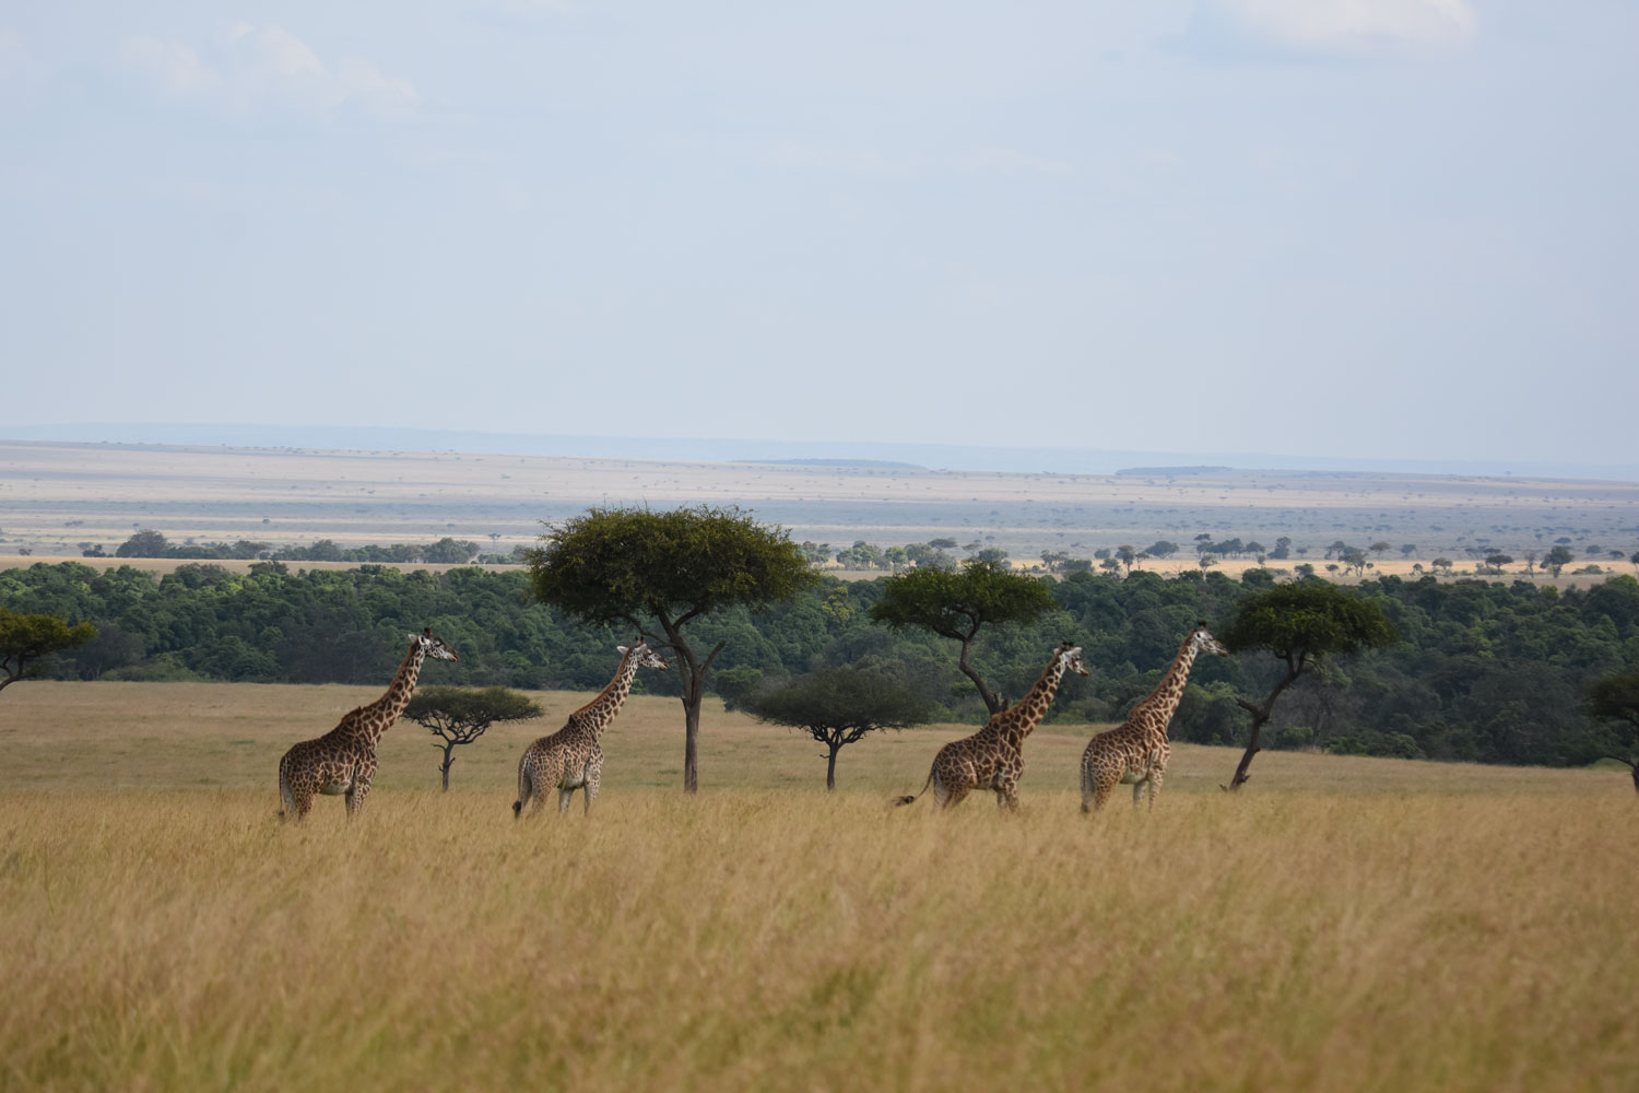
[[[1247,596],[1236,605],[1234,618],[1218,637],[1231,652],[1267,652],[1285,664],[1280,680],[1262,701],[1236,698],[1236,705],[1252,714],[1252,726],[1229,790],[1239,790],[1247,780],[1247,767],[1260,751],[1262,729],[1275,711],[1275,700],[1308,667],[1321,657],[1400,639],[1382,608],[1328,583],[1275,585]]]

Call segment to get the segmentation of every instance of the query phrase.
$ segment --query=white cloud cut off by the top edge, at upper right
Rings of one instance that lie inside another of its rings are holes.
[[[1469,0],[1210,0],[1282,46],[1321,52],[1454,49],[1478,20]]]

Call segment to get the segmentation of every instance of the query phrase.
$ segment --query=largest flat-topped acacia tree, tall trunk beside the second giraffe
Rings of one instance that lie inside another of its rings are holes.
[[[700,703],[705,657],[687,628],[721,608],[769,606],[797,595],[818,574],[783,528],[738,508],[588,508],[549,524],[526,552],[536,598],[587,623],[626,623],[677,654],[683,687],[683,791],[700,788]],[[659,634],[656,634],[659,628]]]

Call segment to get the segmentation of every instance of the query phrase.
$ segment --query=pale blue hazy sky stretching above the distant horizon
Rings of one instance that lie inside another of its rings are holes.
[[[1632,464],[1636,107],[1629,0],[3,0],[0,436]]]

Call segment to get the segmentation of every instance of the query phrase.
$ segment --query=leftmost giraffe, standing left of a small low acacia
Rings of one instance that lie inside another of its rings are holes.
[[[318,739],[302,741],[279,760],[279,798],[282,819],[302,819],[313,808],[313,795],[344,793],[347,819],[359,814],[364,798],[370,795],[370,778],[375,777],[375,744],[410,705],[421,664],[428,657],[459,660],[456,651],[433,636],[428,628],[410,634],[410,652],[387,693],[369,706],[347,713],[341,723]]]

